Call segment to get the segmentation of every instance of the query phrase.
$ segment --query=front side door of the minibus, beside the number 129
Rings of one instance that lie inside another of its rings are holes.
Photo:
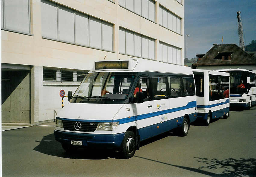
[[[149,98],[149,78],[147,76],[139,77],[133,97],[136,98],[136,92],[143,92],[143,103],[134,103],[133,111],[136,118],[137,128],[139,129],[140,140],[150,137],[151,132],[151,116],[153,113],[153,101]]]

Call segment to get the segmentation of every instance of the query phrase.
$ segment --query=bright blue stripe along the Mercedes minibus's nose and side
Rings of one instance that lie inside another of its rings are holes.
[[[196,101],[191,101],[186,106],[182,106],[182,107],[176,107],[176,108],[162,110],[162,111],[158,111],[158,112],[126,117],[126,118],[122,118],[122,119],[118,119],[118,120],[114,120],[114,121],[119,122],[119,124],[129,123],[129,122],[133,122],[136,120],[147,119],[147,118],[154,117],[154,116],[159,116],[159,115],[163,115],[163,114],[167,114],[167,113],[172,113],[172,112],[176,112],[176,111],[180,111],[180,110],[189,109],[192,107],[196,107]],[[59,117],[56,117],[56,119],[77,121],[77,122],[112,122],[112,120],[80,120],[80,119],[66,119],[66,118],[59,118]]]

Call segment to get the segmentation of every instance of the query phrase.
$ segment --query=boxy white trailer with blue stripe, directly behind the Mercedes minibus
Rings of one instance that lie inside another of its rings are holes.
[[[212,119],[229,116],[229,73],[193,69],[197,96],[197,116],[205,126]]]

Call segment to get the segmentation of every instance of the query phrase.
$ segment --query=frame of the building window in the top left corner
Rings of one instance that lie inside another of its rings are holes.
[[[34,34],[32,34],[32,31],[31,31],[31,8],[30,8],[30,0],[27,0],[28,2],[28,21],[29,21],[29,33],[26,33],[26,32],[23,32],[23,31],[17,31],[17,30],[12,30],[12,29],[9,29],[9,28],[6,28],[6,18],[5,18],[5,1],[6,0],[2,0],[2,15],[3,15],[3,19],[1,18],[1,20],[3,20],[3,26],[1,25],[1,30],[4,30],[4,31],[10,31],[10,32],[14,32],[14,33],[20,33],[20,34],[25,34],[25,35],[28,35],[28,36],[34,36]]]

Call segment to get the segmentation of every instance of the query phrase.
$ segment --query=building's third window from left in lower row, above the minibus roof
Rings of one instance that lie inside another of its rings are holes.
[[[119,27],[119,52],[154,60],[155,39]]]

